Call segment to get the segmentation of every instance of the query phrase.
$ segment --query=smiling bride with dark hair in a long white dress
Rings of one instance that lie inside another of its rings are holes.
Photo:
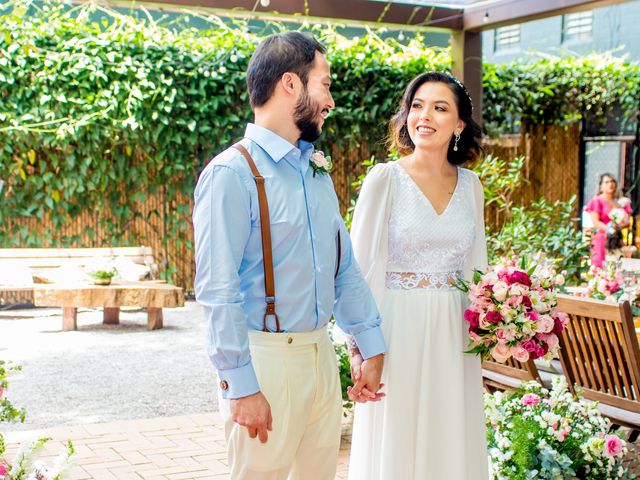
[[[488,478],[480,360],[464,353],[466,300],[453,286],[487,263],[483,188],[459,166],[480,153],[471,112],[454,77],[414,78],[390,125],[404,156],[376,165],[356,204],[353,249],[388,354],[386,398],[356,405],[350,480]]]

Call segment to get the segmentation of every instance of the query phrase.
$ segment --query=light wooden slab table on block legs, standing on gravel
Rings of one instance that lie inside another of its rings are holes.
[[[162,328],[162,309],[184,306],[182,288],[166,283],[137,282],[111,285],[51,284],[36,285],[34,304],[38,307],[62,307],[62,329],[77,329],[78,307],[101,307],[103,322],[120,323],[120,307],[147,309],[147,330]]]

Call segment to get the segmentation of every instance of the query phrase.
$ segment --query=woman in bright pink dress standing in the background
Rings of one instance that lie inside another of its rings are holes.
[[[619,202],[620,194],[618,192],[618,182],[608,173],[600,176],[598,183],[598,193],[589,200],[585,207],[585,211],[591,214],[593,221],[593,234],[591,235],[591,264],[598,268],[602,268],[607,253],[607,228],[612,223],[609,214],[614,208],[622,208],[627,214],[631,214],[631,205],[629,203],[621,204]],[[618,225],[626,227],[626,223]],[[610,227],[609,227],[610,228]]]

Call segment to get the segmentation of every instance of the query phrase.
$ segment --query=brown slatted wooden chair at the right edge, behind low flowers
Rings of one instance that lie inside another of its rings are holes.
[[[570,322],[560,336],[560,360],[574,393],[600,402],[615,424],[640,430],[640,348],[629,302],[612,304],[560,295]]]

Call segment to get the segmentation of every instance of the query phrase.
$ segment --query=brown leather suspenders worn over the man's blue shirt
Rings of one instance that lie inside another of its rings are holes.
[[[267,304],[262,320],[262,331],[268,332],[267,317],[273,315],[276,319],[276,332],[280,332],[280,319],[276,313],[276,286],[273,276],[273,249],[271,247],[271,221],[269,219],[269,203],[267,202],[267,192],[264,188],[264,177],[260,175],[253,158],[240,143],[236,143],[233,148],[238,150],[247,160],[258,189],[258,207],[260,210],[260,231],[262,234],[262,258],[264,266],[264,301]],[[340,272],[340,259],[342,255],[342,241],[340,230],[338,230],[338,265],[334,278]]]

